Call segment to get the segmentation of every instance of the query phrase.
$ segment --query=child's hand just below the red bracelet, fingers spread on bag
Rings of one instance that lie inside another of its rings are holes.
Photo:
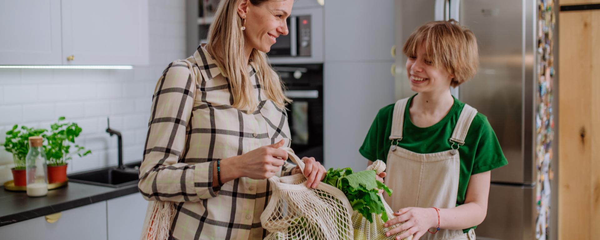
[[[428,229],[437,227],[437,212],[433,208],[402,208],[394,212],[394,215],[398,217],[387,221],[383,226],[388,227],[404,222],[386,233],[386,236],[390,236],[406,231],[397,236],[396,239],[404,239],[413,235],[413,240],[418,240],[427,233]]]

